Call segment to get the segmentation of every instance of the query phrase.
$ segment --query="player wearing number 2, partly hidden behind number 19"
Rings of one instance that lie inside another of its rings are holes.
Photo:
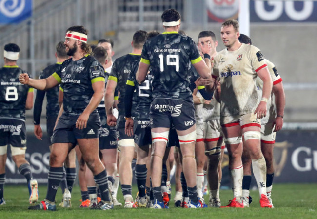
[[[147,39],[159,35],[158,31],[149,32]],[[126,82],[125,91],[125,133],[133,136],[137,149],[137,162],[135,175],[137,179],[139,196],[136,199],[138,207],[146,207],[149,198],[146,196],[146,179],[149,157],[149,147],[152,144],[150,127],[150,104],[152,101],[152,78],[150,72],[147,79],[139,84],[136,80],[136,72],[139,62],[134,63]],[[133,108],[133,110],[132,110]],[[132,113],[133,112],[133,113]],[[132,120],[132,116],[134,120]]]

